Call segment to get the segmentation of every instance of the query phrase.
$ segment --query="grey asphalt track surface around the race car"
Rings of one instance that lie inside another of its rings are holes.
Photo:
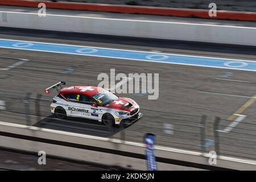
[[[1,39],[15,39],[35,42],[63,43],[78,46],[92,46],[160,53],[221,57],[230,59],[256,60],[255,48],[228,45],[192,44],[160,40],[116,38],[65,34],[61,32],[40,32],[31,30],[9,30],[1,28]],[[168,45],[172,46],[168,46]],[[158,136],[159,145],[200,150],[199,122],[201,115],[207,115],[207,136],[213,139],[213,121],[222,118],[220,130],[232,121],[227,121],[256,94],[255,72],[230,69],[193,67],[164,63],[150,63],[134,60],[111,59],[61,53],[0,49],[0,68],[7,68],[20,61],[28,61],[8,70],[0,69],[0,100],[6,102],[6,110],[0,110],[0,121],[27,123],[23,98],[31,92],[31,125],[50,129],[114,137],[137,142],[143,141],[145,133]],[[97,85],[100,73],[159,73],[159,98],[148,100],[147,95],[121,94],[133,98],[141,106],[144,117],[133,125],[123,128],[108,128],[101,123],[84,119],[56,119],[51,115],[49,104],[55,92],[46,95],[43,90],[58,81],[68,85]],[[63,73],[72,70],[69,73]],[[228,73],[227,73],[228,72]],[[42,94],[40,113],[35,109],[37,94]],[[253,102],[253,101],[252,101]],[[229,133],[220,133],[221,154],[255,160],[255,108],[251,103],[241,113],[246,115]],[[40,115],[40,116],[38,116]],[[172,124],[173,133],[164,133],[164,126]],[[212,150],[209,146],[207,150]]]

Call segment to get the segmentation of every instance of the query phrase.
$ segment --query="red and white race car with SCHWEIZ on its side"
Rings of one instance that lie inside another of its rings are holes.
[[[104,122],[106,126],[131,124],[142,117],[139,105],[130,98],[118,97],[115,93],[97,86],[66,86],[60,81],[45,90],[57,90],[53,97],[51,113],[56,117],[79,117]]]

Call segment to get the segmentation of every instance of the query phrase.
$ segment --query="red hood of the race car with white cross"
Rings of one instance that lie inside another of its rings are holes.
[[[130,98],[119,97],[117,100],[106,105],[106,107],[131,112],[138,108],[138,104]]]

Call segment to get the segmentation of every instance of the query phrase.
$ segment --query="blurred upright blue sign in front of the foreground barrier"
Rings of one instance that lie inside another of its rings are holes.
[[[155,153],[154,153],[155,135],[146,134],[144,140],[146,144],[147,170],[156,171],[157,167],[156,167]]]

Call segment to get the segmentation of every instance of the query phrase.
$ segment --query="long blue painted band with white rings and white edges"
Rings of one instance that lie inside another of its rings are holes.
[[[24,49],[30,51],[67,53],[85,56],[111,57],[138,61],[151,61],[156,63],[170,63],[192,65],[198,67],[212,67],[224,69],[237,69],[243,71],[256,71],[256,61],[222,59],[214,57],[175,55],[156,52],[130,51],[124,49],[111,49],[100,47],[72,46],[66,44],[24,42],[20,40],[0,39],[0,47]]]

